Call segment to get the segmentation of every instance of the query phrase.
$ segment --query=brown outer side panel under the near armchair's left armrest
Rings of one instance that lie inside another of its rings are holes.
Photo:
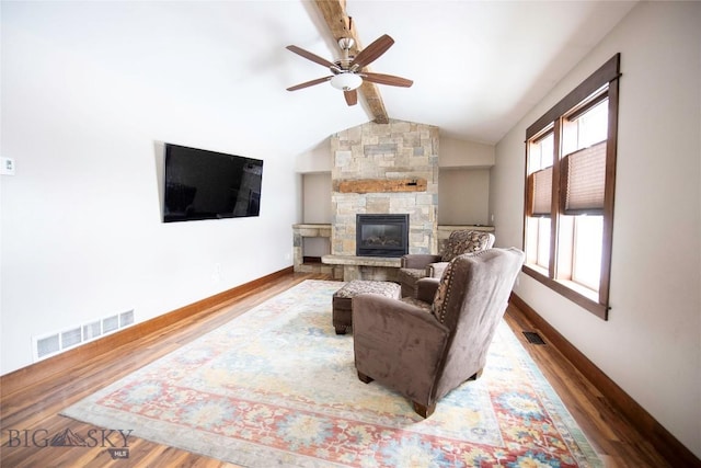
[[[356,368],[413,401],[428,404],[448,335],[416,306],[374,294],[353,298]]]

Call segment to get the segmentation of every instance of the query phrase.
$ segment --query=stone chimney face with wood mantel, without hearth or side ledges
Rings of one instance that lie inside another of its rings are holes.
[[[406,215],[407,253],[436,252],[438,127],[367,123],[332,135],[331,153],[332,255],[359,255],[356,216],[366,214]]]

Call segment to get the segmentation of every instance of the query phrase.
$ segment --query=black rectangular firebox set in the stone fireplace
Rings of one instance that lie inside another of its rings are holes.
[[[356,215],[356,255],[409,253],[409,215]]]

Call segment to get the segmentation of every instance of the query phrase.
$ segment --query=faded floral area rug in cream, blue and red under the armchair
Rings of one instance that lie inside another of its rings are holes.
[[[249,467],[602,466],[504,322],[427,420],[363,384],[331,323],[342,285],[306,281],[62,414]]]

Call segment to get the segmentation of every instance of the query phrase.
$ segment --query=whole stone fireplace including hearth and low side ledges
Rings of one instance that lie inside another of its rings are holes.
[[[439,253],[450,232],[491,226],[438,226],[438,127],[402,121],[367,123],[331,141],[331,224],[295,225],[296,272],[331,273],[344,281],[395,281],[399,256],[358,251],[358,215],[405,215],[407,253]],[[321,263],[306,263],[303,239],[329,239]],[[392,253],[395,254],[395,253]]]

